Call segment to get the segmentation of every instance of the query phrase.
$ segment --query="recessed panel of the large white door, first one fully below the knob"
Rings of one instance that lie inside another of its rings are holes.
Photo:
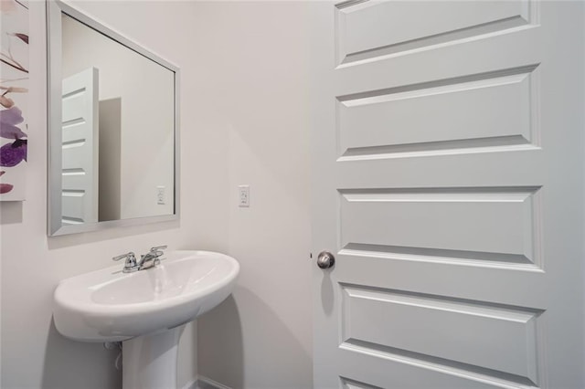
[[[539,310],[342,285],[342,346],[409,353],[537,380]],[[482,336],[477,336],[482,334]],[[464,347],[453,347],[464,343]]]

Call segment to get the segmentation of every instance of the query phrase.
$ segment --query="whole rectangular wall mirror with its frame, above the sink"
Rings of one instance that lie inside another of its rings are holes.
[[[47,7],[48,235],[178,218],[178,68]]]

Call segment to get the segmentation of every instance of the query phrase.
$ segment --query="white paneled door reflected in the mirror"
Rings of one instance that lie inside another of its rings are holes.
[[[98,69],[63,79],[62,224],[98,221]]]

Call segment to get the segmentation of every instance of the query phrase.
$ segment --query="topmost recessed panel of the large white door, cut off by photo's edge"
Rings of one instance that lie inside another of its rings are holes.
[[[340,60],[347,63],[526,26],[530,7],[527,0],[348,1],[337,5]]]

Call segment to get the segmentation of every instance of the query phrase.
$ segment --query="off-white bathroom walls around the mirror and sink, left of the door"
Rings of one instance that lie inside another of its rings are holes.
[[[2,204],[3,388],[116,388],[114,354],[51,324],[58,280],[154,244],[228,252],[233,297],[181,342],[179,384],[199,372],[233,388],[312,386],[309,218],[310,28],[315,3],[81,2],[182,69],[178,223],[46,236],[44,9],[31,2],[27,202]],[[130,22],[129,22],[130,21]],[[237,207],[250,184],[251,207]]]

